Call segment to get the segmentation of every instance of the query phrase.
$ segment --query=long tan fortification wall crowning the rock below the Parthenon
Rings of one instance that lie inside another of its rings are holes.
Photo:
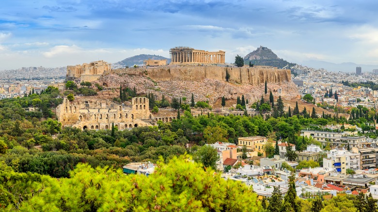
[[[268,83],[291,81],[290,70],[261,67],[164,66],[129,68],[115,70],[114,72],[145,76],[156,81],[203,81],[205,78],[226,81],[227,72],[230,75],[229,82],[239,84],[260,85],[261,83],[265,83],[265,81]]]

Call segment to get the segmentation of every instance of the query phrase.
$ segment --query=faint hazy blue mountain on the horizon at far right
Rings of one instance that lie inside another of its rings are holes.
[[[303,61],[301,65],[305,65],[312,68],[324,68],[331,72],[351,72],[356,73],[356,67],[360,66],[362,73],[372,72],[373,69],[378,69],[378,65],[364,65],[356,64],[354,62],[333,63],[326,61]]]

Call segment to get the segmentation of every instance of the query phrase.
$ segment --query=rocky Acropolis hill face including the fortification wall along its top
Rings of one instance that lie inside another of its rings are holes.
[[[225,76],[230,74],[229,82]],[[110,88],[136,88],[138,93],[154,93],[158,99],[164,94],[167,98],[187,97],[190,101],[209,101],[214,104],[222,96],[235,99],[244,94],[251,103],[265,95],[265,81],[268,91],[275,98],[279,95],[292,99],[299,95],[297,87],[290,80],[290,70],[230,67],[159,67],[148,69],[123,69],[107,73],[98,83]],[[279,93],[281,91],[281,94]],[[114,92],[114,96],[118,93]],[[269,92],[268,92],[269,95]],[[268,98],[268,96],[267,96]]]

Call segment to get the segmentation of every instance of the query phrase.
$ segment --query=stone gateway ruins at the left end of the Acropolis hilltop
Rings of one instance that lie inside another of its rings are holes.
[[[97,80],[105,71],[110,71],[110,63],[94,61],[82,65],[67,66],[66,80],[80,80],[92,82]]]

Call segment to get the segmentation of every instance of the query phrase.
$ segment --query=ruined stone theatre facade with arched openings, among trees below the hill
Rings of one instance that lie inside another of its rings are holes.
[[[111,129],[112,124],[119,130],[138,126],[155,125],[157,121],[172,121],[176,117],[153,117],[148,109],[148,98],[135,97],[131,105],[116,105],[109,101],[75,100],[57,107],[58,120],[63,126],[79,129]]]

